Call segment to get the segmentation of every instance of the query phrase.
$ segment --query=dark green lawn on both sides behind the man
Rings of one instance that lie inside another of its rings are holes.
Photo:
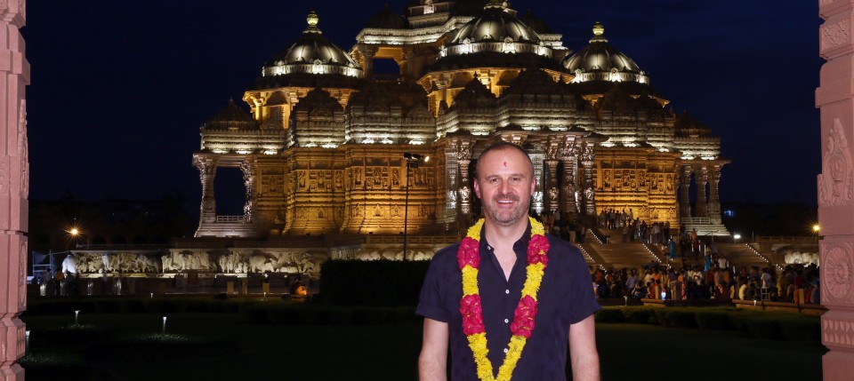
[[[286,326],[240,314],[28,316],[38,380],[414,380],[420,323]],[[605,380],[821,379],[816,343],[741,337],[734,331],[598,324]],[[781,366],[780,364],[785,364]],[[56,373],[61,373],[61,377]]]

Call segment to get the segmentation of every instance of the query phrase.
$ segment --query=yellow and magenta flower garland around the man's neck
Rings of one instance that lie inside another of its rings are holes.
[[[522,298],[513,312],[513,322],[510,325],[513,336],[504,356],[504,363],[498,369],[498,377],[494,377],[492,362],[487,358],[487,333],[483,324],[483,309],[480,305],[478,289],[478,268],[480,266],[480,230],[483,228],[483,218],[469,228],[468,234],[456,251],[457,263],[463,272],[463,298],[460,299],[460,314],[463,314],[463,334],[469,340],[469,347],[474,353],[478,377],[484,381],[510,380],[513,369],[519,361],[525,343],[531,337],[536,318],[536,293],[543,282],[543,274],[549,258],[549,241],[545,238],[543,224],[528,217],[531,222],[531,239],[528,241],[528,277],[522,287]]]

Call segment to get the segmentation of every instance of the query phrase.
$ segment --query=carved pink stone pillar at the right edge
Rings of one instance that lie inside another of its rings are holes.
[[[821,67],[816,106],[821,109],[818,243],[821,261],[821,342],[825,380],[854,380],[854,0],[819,0],[825,22],[818,31]]]

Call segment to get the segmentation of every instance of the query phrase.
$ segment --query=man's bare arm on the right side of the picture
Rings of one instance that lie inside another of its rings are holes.
[[[599,353],[596,351],[596,330],[593,315],[583,321],[569,325],[569,362],[572,364],[572,379],[597,381]]]

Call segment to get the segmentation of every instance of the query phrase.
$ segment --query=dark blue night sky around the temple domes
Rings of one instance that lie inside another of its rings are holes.
[[[300,36],[308,11],[349,51],[383,4],[402,13],[407,2],[28,2],[30,198],[181,194],[197,208],[191,157],[199,124],[230,98],[248,109],[243,92]],[[722,174],[722,202],[816,203],[818,2],[512,6],[546,20],[574,52],[601,21],[610,44],[647,72],[674,110],[721,137],[722,155],[733,162]]]

